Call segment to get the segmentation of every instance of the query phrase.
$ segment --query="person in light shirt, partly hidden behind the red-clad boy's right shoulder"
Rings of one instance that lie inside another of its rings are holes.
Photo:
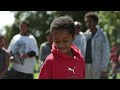
[[[75,21],[74,24],[76,37],[73,43],[78,47],[82,55],[85,56],[86,41],[85,36],[81,30],[81,23],[79,21]]]

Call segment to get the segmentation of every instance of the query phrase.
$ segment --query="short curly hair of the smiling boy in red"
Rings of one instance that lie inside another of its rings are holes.
[[[75,35],[75,25],[71,17],[60,16],[56,18],[50,26],[51,33],[53,30],[67,30],[72,36]]]

